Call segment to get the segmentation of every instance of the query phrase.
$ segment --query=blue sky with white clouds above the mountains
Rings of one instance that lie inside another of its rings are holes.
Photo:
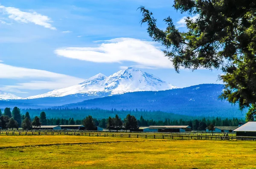
[[[170,15],[184,31],[187,15],[172,0],[0,0],[0,90],[32,96],[128,66],[177,87],[221,83],[220,70],[176,73],[140,25],[139,6],[160,28]]]

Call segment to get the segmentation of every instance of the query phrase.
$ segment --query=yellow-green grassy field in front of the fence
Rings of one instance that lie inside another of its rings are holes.
[[[255,157],[256,141],[0,136],[0,168],[249,169]]]

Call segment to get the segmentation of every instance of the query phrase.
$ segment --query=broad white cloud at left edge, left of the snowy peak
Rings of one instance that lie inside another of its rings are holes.
[[[0,79],[23,79],[24,83],[15,85],[5,85],[0,90],[8,92],[18,92],[20,90],[42,90],[42,89],[59,89],[76,85],[84,81],[73,76],[60,73],[53,73],[46,70],[29,69],[15,67],[0,63]]]

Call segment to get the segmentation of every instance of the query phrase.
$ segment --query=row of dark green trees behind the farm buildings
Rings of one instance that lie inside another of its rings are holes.
[[[84,119],[74,119],[74,118],[47,118],[47,115],[44,111],[40,113],[39,116],[35,118],[30,117],[29,112],[26,112],[24,115],[20,113],[18,107],[14,107],[11,111],[10,108],[6,107],[4,113],[0,110],[0,127],[2,129],[7,128],[19,128],[22,127],[25,130],[32,128],[40,127],[41,125],[81,125],[83,124],[86,130],[96,130],[96,127],[102,127],[109,130],[138,130],[138,126],[171,126],[171,125],[188,125],[192,127],[192,130],[205,130],[210,124],[214,126],[238,126],[239,122],[244,122],[242,119],[233,118],[233,119],[194,119],[194,120],[171,120],[165,119],[162,120],[149,120],[140,116],[140,119],[134,115],[126,115],[124,119],[121,119],[119,115],[115,117],[97,119],[93,118],[91,115],[88,115]]]

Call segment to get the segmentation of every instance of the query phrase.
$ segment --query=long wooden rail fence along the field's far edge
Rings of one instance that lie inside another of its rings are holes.
[[[220,136],[220,135],[180,135],[180,134],[133,134],[133,133],[103,133],[103,132],[47,132],[47,131],[0,131],[0,135],[80,135],[90,137],[119,137],[119,138],[146,138],[146,139],[196,139],[196,140],[253,140],[250,136]]]

